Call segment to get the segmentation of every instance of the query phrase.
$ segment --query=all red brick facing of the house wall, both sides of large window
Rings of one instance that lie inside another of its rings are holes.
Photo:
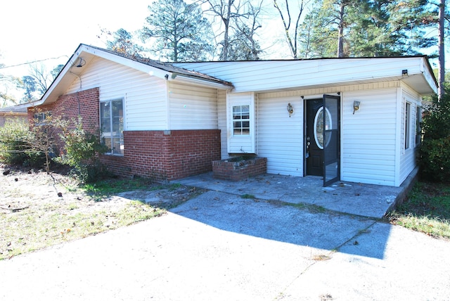
[[[83,127],[97,132],[99,89],[63,95],[55,103],[40,105],[67,120],[83,117]],[[32,119],[33,108],[28,110]],[[60,146],[62,148],[62,146]],[[210,172],[212,161],[220,160],[220,130],[125,131],[124,155],[101,155],[108,170],[119,176],[138,175],[156,180],[181,179]]]

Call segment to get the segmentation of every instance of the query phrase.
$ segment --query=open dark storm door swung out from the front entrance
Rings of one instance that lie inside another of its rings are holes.
[[[340,96],[323,95],[323,186],[340,179]]]

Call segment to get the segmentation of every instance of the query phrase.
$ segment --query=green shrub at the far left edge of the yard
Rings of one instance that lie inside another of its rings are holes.
[[[0,127],[0,161],[8,165],[42,165],[44,156],[32,147],[33,137],[26,122],[4,124]]]

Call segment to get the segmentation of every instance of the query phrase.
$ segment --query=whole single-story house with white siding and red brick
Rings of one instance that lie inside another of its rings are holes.
[[[399,186],[436,91],[426,56],[165,64],[80,44],[34,105],[101,129],[101,160],[124,176],[249,153],[269,173]]]

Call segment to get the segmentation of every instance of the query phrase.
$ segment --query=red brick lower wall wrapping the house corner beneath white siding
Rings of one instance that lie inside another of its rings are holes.
[[[125,131],[124,156],[101,155],[111,172],[158,181],[210,172],[220,159],[220,130]]]

